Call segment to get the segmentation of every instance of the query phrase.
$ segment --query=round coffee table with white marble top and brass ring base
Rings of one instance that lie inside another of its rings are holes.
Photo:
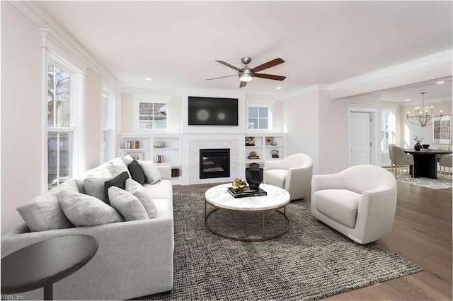
[[[285,234],[291,227],[291,220],[286,215],[286,206],[289,203],[289,193],[285,189],[275,187],[269,184],[260,184],[260,189],[267,192],[265,196],[247,196],[242,198],[234,198],[228,191],[231,184],[222,184],[207,189],[205,193],[205,225],[215,235],[228,238],[229,240],[240,240],[243,242],[262,242],[264,240],[271,240]],[[207,212],[207,204],[214,207],[212,211]],[[283,208],[283,211],[279,209]],[[208,219],[215,211],[222,209],[225,211],[232,211],[237,213],[260,213],[261,214],[261,237],[260,238],[241,238],[232,237],[219,233],[212,229]],[[265,235],[265,213],[276,211],[280,213],[287,220],[287,227],[275,235]]]

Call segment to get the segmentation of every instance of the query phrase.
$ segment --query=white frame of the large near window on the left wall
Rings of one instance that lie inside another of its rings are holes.
[[[72,132],[72,158],[71,158],[71,177],[74,175],[78,175],[79,172],[83,169],[84,166],[84,156],[82,155],[84,152],[84,137],[83,137],[83,109],[84,109],[84,99],[83,99],[83,91],[84,91],[84,73],[69,64],[64,59],[61,59],[55,54],[49,54],[47,56],[47,64],[45,66],[45,74],[47,78],[48,73],[48,66],[52,64],[59,69],[64,70],[67,73],[71,74],[71,94],[70,94],[70,125],[67,128],[59,128],[59,127],[52,127],[48,126],[47,124],[47,116],[45,118],[46,124],[46,141],[47,141],[47,134],[49,132]],[[46,87],[45,90],[47,91],[47,80],[46,80]],[[46,93],[47,94],[47,93]],[[45,98],[47,107],[47,97]],[[48,155],[48,148],[46,144],[46,152],[45,156]],[[45,159],[47,162],[47,158]],[[46,183],[48,182],[48,163],[46,166]],[[57,178],[57,184],[59,184],[59,180]],[[48,183],[47,183],[48,185]]]

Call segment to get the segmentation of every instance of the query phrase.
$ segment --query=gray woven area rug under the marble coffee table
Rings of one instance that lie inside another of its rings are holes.
[[[316,300],[423,271],[378,244],[352,242],[297,203],[287,206],[292,225],[281,237],[265,242],[224,239],[205,228],[205,191],[173,192],[173,290],[144,299]],[[216,230],[245,228],[239,236],[260,235],[256,214],[215,214],[210,222]],[[285,228],[280,214],[266,213],[265,218],[266,234]]]

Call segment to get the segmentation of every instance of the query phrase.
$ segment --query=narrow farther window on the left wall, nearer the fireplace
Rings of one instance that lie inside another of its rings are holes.
[[[102,160],[113,158],[113,104],[114,95],[104,90],[102,93]]]

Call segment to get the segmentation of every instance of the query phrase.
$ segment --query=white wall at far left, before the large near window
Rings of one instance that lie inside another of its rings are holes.
[[[1,1],[1,234],[22,222],[16,207],[42,191],[40,42],[38,28]]]

